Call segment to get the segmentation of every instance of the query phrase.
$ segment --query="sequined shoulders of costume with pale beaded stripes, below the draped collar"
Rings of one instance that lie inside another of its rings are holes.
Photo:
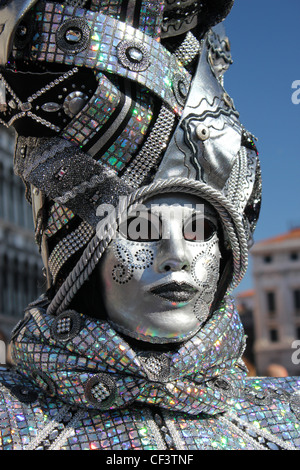
[[[274,394],[268,405],[245,397],[224,414],[192,416],[158,407],[89,411],[46,397],[13,371],[0,370],[0,449],[3,450],[279,450],[300,449],[300,421]],[[288,395],[296,378],[251,378],[252,391]]]

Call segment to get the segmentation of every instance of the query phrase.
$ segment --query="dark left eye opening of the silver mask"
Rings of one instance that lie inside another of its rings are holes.
[[[136,217],[128,217],[120,224],[120,234],[127,240],[151,242],[161,240],[162,222],[151,212],[141,212]]]

